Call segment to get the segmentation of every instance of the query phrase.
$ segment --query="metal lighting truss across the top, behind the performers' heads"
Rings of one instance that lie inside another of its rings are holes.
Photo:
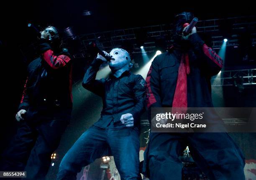
[[[232,31],[232,35],[227,42],[227,46],[238,46],[238,33],[245,29],[250,29],[253,38],[252,43],[253,45],[256,44],[256,16],[201,20],[197,23],[197,32],[204,32],[211,35],[212,47],[215,49],[220,48],[223,44],[224,38],[220,30],[220,24],[225,22],[230,24],[230,32]],[[80,49],[79,53],[74,55],[74,57],[84,57],[87,51],[86,46],[91,41],[95,41],[97,46],[102,50],[110,51],[113,47],[120,47],[123,41],[128,40],[132,43],[133,53],[141,53],[141,49],[136,45],[136,32],[141,30],[141,28],[147,32],[147,41],[144,44],[144,49],[146,52],[155,51],[155,38],[166,37],[165,39],[170,39],[168,37],[172,33],[171,26],[169,24],[162,24],[82,34],[78,35],[78,38],[81,41],[83,47]]]

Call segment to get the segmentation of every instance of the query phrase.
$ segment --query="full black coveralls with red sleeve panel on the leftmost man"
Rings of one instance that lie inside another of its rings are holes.
[[[28,65],[28,77],[18,110],[27,112],[1,170],[27,171],[31,180],[44,179],[51,154],[59,146],[72,111],[70,55],[54,54],[46,40],[39,42],[41,57]],[[26,167],[26,168],[25,168]]]

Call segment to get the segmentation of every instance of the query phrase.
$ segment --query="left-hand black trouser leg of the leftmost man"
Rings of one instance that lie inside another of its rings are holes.
[[[14,140],[2,155],[1,170],[23,171],[36,142],[36,137],[35,129],[26,122],[21,122]]]

